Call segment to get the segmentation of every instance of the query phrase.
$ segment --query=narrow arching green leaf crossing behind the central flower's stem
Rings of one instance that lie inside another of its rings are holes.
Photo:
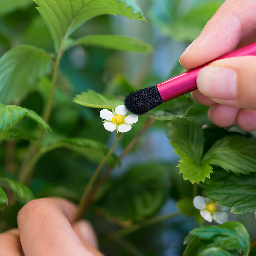
[[[42,151],[46,153],[57,148],[68,148],[96,163],[100,163],[109,151],[109,148],[105,144],[99,141],[84,138],[66,138],[55,140],[45,145]],[[108,158],[107,161],[107,165],[112,167],[119,163],[119,158],[114,153]]]

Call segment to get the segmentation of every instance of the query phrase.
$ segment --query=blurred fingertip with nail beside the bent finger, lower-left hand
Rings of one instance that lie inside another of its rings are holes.
[[[98,248],[98,240],[92,224],[86,220],[79,220],[73,225],[74,232],[79,237],[80,241],[90,243],[92,246]]]

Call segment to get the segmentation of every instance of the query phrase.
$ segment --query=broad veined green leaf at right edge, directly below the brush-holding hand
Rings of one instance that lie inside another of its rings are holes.
[[[212,145],[203,162],[235,174],[256,172],[256,142],[243,136],[226,136]]]

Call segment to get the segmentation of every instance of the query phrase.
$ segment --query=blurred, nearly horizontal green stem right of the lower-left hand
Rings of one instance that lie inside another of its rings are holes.
[[[179,216],[181,214],[182,214],[181,212],[174,212],[174,213],[172,212],[172,213],[152,217],[148,220],[145,220],[144,222],[141,222],[140,224],[133,224],[132,226],[130,226],[128,228],[123,228],[121,230],[118,230],[117,232],[115,232],[114,234],[109,236],[108,240],[114,240],[114,239],[119,238],[121,236],[125,236],[125,235],[128,235],[128,234],[130,234],[134,231],[137,231],[140,228],[156,224],[156,223],[161,222],[163,220],[171,219],[171,218]]]

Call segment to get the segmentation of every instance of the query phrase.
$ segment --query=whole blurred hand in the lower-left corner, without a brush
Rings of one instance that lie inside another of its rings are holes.
[[[76,206],[63,198],[28,202],[18,213],[18,229],[0,234],[0,255],[103,256],[91,225],[74,222],[75,214]]]

